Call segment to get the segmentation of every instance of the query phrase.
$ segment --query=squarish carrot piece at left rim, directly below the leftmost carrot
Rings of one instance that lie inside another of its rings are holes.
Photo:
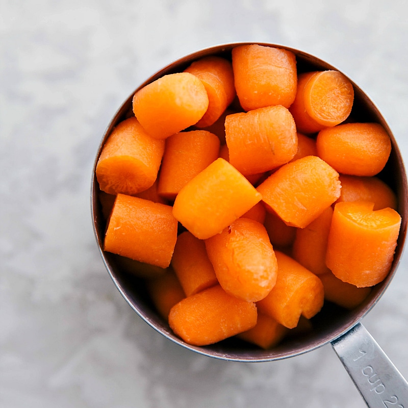
[[[104,250],[167,268],[177,239],[171,207],[118,194],[105,235]]]

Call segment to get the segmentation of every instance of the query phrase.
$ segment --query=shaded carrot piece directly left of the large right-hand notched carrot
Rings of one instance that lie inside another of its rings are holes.
[[[333,208],[329,206],[308,226],[296,231],[293,258],[316,275],[329,272],[326,250],[332,217]]]

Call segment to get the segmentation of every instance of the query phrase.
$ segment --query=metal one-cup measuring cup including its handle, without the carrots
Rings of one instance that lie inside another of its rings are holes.
[[[231,59],[232,48],[242,44],[253,43],[241,42],[212,46],[201,49],[165,66],[135,89],[113,116],[96,153],[91,183],[93,228],[103,262],[113,283],[132,309],[146,323],[176,344],[216,359],[237,362],[268,362],[294,357],[330,343],[369,407],[384,408],[395,406],[408,408],[407,381],[360,323],[361,319],[370,312],[382,294],[387,290],[402,256],[408,217],[406,173],[397,143],[385,118],[369,96],[347,75],[345,76],[354,87],[354,104],[351,113],[353,118],[360,122],[378,122],[385,127],[390,135],[392,143],[391,155],[386,167],[378,176],[396,192],[398,212],[402,217],[401,230],[391,271],[383,282],[372,288],[370,295],[358,307],[349,311],[326,302],[322,311],[312,319],[313,330],[310,333],[302,334],[296,338],[287,338],[270,350],[256,348],[235,338],[226,339],[210,346],[196,347],[176,337],[167,322],[158,315],[154,305],[146,295],[143,279],[123,271],[114,254],[103,250],[106,220],[101,214],[95,168],[101,149],[112,132],[113,127],[127,117],[127,115],[132,114],[132,98],[134,93],[165,74],[183,71],[194,60],[201,57],[218,55]],[[258,44],[285,48],[292,51],[296,55],[299,73],[327,69],[338,70],[327,62],[298,49],[279,44]]]

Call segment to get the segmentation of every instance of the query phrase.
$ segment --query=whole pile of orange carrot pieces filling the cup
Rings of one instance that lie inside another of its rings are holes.
[[[256,44],[135,93],[96,166],[104,250],[185,342],[270,348],[387,276],[391,140],[353,120],[353,99],[340,72],[298,73],[292,52]]]

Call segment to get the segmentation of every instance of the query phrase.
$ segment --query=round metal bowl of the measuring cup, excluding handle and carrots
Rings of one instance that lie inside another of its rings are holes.
[[[99,158],[101,149],[107,137],[112,132],[113,127],[117,123],[125,119],[127,115],[132,114],[132,98],[137,90],[144,87],[148,83],[155,81],[165,74],[181,72],[194,60],[205,56],[218,55],[231,60],[232,48],[237,45],[243,44],[253,43],[223,44],[199,50],[198,52],[190,54],[167,65],[166,67],[152,75],[147,81],[145,81],[134,92],[132,92],[132,94],[124,101],[122,106],[113,116],[100,142],[93,167],[91,186],[91,212],[93,217],[95,237],[105,266],[109,274],[111,275],[114,284],[123,295],[127,303],[130,304],[133,310],[143,320],[145,320],[148,324],[159,331],[159,333],[172,340],[173,342],[190,350],[196,351],[200,354],[223,360],[260,362],[288,358],[325,345],[349,331],[371,310],[371,308],[376,304],[376,302],[379,300],[381,295],[385,292],[388,285],[390,284],[402,256],[406,236],[408,188],[402,157],[395,138],[392,135],[392,132],[385,118],[381,115],[378,108],[374,105],[371,99],[353,81],[351,81],[351,79],[348,78],[347,75],[345,75],[354,87],[354,104],[350,114],[351,120],[358,122],[380,123],[385,127],[391,138],[392,150],[390,158],[386,167],[377,175],[381,180],[385,181],[397,194],[397,210],[402,217],[401,229],[395,251],[394,261],[389,275],[383,282],[377,284],[372,288],[371,293],[362,304],[351,311],[337,307],[335,304],[332,304],[330,302],[325,302],[321,312],[319,312],[314,318],[311,319],[311,323],[313,326],[313,329],[311,331],[308,331],[308,333],[299,334],[299,336],[297,337],[288,337],[284,339],[281,344],[275,346],[270,350],[260,349],[236,338],[226,339],[210,346],[196,347],[185,343],[179,337],[175,336],[169,325],[158,315],[154,305],[148,298],[143,279],[124,272],[117,262],[117,257],[114,254],[105,252],[103,250],[106,220],[101,213],[99,203],[99,187],[95,176],[96,163]],[[327,69],[338,70],[330,64],[297,49],[277,44],[258,44],[276,46],[292,51],[296,55],[298,73]]]

